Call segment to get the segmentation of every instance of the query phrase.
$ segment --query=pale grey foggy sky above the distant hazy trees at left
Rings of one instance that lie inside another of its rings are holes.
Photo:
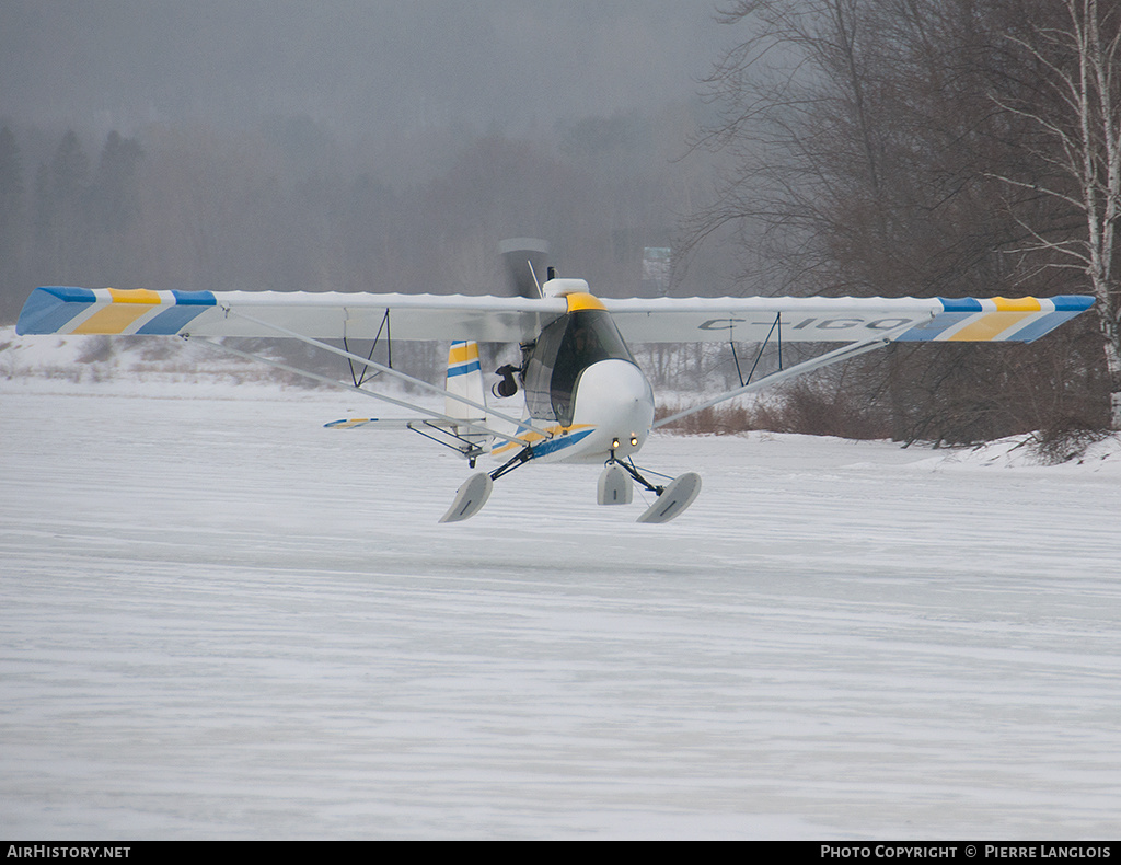
[[[253,122],[342,135],[692,98],[730,42],[715,0],[2,0],[0,117]]]

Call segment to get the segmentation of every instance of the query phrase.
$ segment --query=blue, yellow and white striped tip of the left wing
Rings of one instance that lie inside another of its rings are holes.
[[[40,286],[24,304],[16,333],[170,335],[216,305],[213,292]]]

